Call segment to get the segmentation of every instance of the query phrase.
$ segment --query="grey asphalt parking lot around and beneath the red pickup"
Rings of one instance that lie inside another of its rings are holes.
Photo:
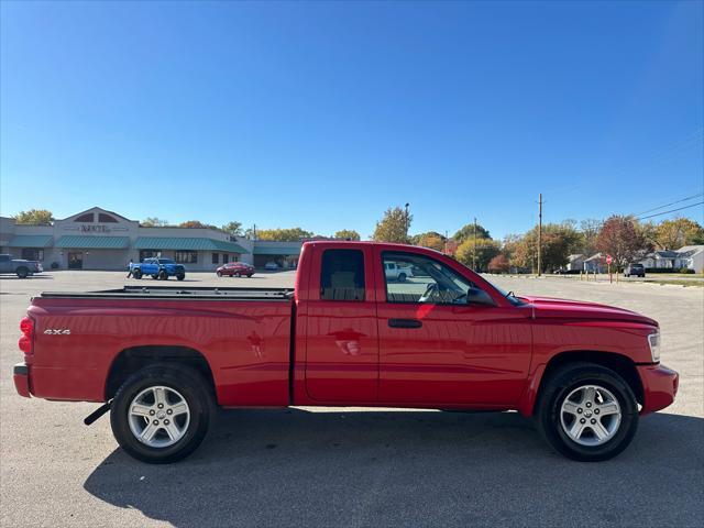
[[[179,285],[293,286],[293,273],[190,274]],[[0,279],[0,522],[25,526],[701,526],[704,288],[498,278],[517,294],[612,304],[660,321],[673,406],[617,459],[575,463],[515,413],[222,411],[186,461],[139,463],[91,404],[18,396],[18,321],[41,290],[148,286],[118,272]],[[176,283],[174,283],[176,284]]]

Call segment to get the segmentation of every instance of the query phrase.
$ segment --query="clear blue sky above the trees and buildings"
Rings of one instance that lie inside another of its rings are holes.
[[[639,213],[704,190],[703,6],[2,2],[0,211],[369,235],[410,202],[413,232],[495,237],[539,191],[546,221]]]

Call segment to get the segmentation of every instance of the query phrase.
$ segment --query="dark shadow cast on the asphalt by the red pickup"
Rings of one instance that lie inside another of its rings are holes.
[[[695,526],[704,420],[658,414],[609,462],[553,453],[517,414],[222,411],[184,462],[121,450],[85,490],[188,526]],[[576,520],[579,519],[579,520]]]

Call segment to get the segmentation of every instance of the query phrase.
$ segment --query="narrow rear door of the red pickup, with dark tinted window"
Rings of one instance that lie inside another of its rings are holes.
[[[328,404],[376,402],[378,336],[371,248],[316,249],[306,317],[306,391]]]

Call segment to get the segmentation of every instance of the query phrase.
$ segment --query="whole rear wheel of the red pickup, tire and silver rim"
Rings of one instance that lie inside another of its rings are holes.
[[[157,364],[130,376],[110,409],[116,440],[152,464],[176,462],[202,442],[215,417],[212,392],[188,366]]]

